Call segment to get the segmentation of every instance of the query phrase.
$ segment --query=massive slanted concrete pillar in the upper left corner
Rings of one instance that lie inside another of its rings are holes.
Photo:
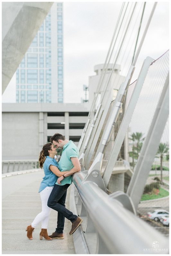
[[[2,2],[2,93],[53,2]]]

